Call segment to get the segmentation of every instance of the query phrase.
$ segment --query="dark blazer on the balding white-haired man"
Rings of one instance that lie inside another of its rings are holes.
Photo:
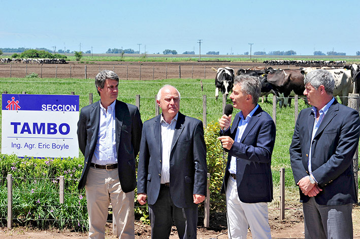
[[[138,193],[155,204],[161,178],[161,115],[144,122],[138,167]],[[192,194],[206,195],[207,166],[203,123],[179,112],[170,153],[170,194],[174,205],[188,208]]]

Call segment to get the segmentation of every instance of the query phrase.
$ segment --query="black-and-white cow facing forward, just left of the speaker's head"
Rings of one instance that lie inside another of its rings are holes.
[[[234,86],[234,69],[227,66],[220,67],[217,70],[215,68],[212,69],[217,71],[215,76],[215,98],[219,97],[219,91],[223,95],[228,95]]]

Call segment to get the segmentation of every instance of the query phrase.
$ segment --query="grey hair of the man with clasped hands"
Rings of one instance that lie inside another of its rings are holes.
[[[335,88],[335,80],[332,74],[323,69],[312,70],[306,74],[304,79],[304,84],[312,85],[315,90],[319,88],[321,85],[324,86],[326,93],[333,94]]]

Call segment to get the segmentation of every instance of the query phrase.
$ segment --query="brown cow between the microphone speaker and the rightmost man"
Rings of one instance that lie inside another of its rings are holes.
[[[274,71],[268,74],[267,82],[271,84],[278,97],[283,94],[284,100],[279,101],[280,107],[282,105],[287,106],[289,96],[304,95],[304,75],[301,70],[284,69]]]

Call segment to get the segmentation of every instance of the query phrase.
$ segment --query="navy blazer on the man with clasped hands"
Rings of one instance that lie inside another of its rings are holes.
[[[303,109],[290,145],[290,162],[295,182],[309,175],[308,153],[314,126],[314,114]],[[326,112],[311,148],[312,174],[322,191],[315,196],[319,205],[356,203],[352,157],[359,140],[359,114],[336,100]],[[300,190],[300,202],[310,199]]]

